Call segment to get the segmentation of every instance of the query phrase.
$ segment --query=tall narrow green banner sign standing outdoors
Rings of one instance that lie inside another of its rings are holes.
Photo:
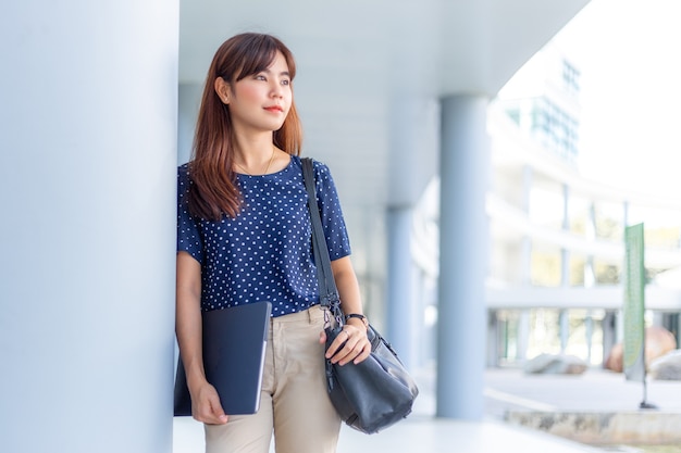
[[[627,380],[645,381],[643,224],[624,229],[624,376]]]

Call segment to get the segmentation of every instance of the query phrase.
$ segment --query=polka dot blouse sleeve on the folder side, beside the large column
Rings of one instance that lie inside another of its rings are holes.
[[[200,219],[189,214],[189,178],[188,165],[177,168],[177,252],[187,252],[196,261],[203,261],[203,241],[199,230]]]

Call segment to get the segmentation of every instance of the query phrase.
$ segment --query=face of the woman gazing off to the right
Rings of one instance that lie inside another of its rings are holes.
[[[231,90],[216,89],[223,102],[226,96],[232,123],[240,133],[280,129],[293,102],[288,64],[281,52],[267,70],[238,80]]]

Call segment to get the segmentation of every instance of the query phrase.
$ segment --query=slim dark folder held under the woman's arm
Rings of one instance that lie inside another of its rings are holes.
[[[227,415],[258,412],[271,311],[270,302],[253,302],[202,315],[206,378],[218,390]],[[177,362],[174,397],[175,415],[191,415],[182,360]]]

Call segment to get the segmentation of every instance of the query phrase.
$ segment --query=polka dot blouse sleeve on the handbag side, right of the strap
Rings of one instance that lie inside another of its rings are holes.
[[[329,256],[332,261],[338,260],[351,252],[338,192],[329,167],[317,161],[314,161],[314,179],[317,181],[317,202],[326,237]]]

